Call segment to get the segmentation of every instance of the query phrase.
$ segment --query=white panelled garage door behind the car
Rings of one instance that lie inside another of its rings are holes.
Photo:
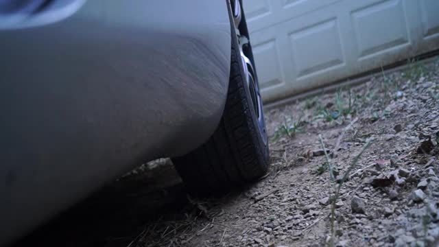
[[[244,0],[264,101],[439,49],[439,0]]]

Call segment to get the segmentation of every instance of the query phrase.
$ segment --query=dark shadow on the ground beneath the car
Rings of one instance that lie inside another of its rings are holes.
[[[174,166],[163,163],[119,178],[12,246],[128,246],[145,225],[191,207]]]

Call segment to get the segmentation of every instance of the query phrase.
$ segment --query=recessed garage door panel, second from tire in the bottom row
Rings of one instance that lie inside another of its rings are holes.
[[[289,34],[297,78],[343,64],[342,44],[335,18]],[[324,40],[324,45],[322,45]],[[331,49],[327,49],[330,46]]]

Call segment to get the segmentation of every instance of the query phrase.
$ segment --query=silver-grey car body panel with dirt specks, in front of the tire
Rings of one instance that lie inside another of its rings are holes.
[[[89,0],[40,23],[0,30],[0,245],[193,150],[226,100],[226,1]]]

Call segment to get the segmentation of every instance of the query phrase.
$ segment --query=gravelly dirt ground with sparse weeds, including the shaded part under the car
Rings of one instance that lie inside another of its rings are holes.
[[[439,58],[265,119],[272,165],[257,183],[191,198],[163,159],[16,246],[436,246]]]

